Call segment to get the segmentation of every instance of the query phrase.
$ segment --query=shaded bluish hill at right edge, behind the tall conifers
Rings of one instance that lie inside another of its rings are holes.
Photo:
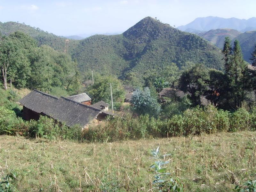
[[[247,31],[237,36],[235,39],[240,42],[244,60],[251,62],[250,58],[252,57],[252,52],[256,45],[256,31]]]

